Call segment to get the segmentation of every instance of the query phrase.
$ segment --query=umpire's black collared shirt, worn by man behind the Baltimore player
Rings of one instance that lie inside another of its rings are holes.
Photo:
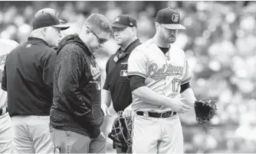
[[[130,80],[127,79],[127,61],[130,56],[130,53],[141,44],[139,39],[130,43],[123,55],[119,57],[121,48],[117,50],[117,53],[114,53],[110,56],[110,59],[107,61],[106,74],[107,78],[103,86],[104,89],[110,91],[111,98],[113,101],[113,109],[118,111],[123,111],[128,107],[133,99],[132,93],[130,91]]]

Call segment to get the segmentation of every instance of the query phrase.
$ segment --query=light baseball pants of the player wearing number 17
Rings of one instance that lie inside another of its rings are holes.
[[[156,118],[136,115],[133,119],[133,153],[183,153],[179,116]]]

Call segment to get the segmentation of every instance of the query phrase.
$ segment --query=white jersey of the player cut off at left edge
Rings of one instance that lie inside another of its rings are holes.
[[[15,49],[18,43],[15,40],[0,39],[0,86],[2,86],[2,71],[5,66],[5,59],[11,50]],[[0,89],[0,108],[4,107],[7,103],[7,92]]]

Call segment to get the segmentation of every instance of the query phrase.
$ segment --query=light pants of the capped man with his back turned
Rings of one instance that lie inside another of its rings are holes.
[[[53,153],[49,129],[49,116],[14,116],[13,152],[15,153]]]

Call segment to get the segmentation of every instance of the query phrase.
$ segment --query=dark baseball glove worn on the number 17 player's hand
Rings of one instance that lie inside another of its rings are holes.
[[[216,114],[216,103],[217,101],[215,98],[206,98],[195,101],[195,118],[197,123],[202,125],[205,132],[207,132],[207,129],[204,124],[208,124]]]

